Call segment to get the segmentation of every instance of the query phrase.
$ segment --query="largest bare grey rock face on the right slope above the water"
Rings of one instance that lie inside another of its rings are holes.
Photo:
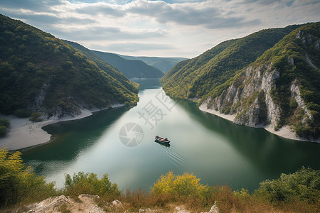
[[[270,90],[279,71],[272,66],[248,67],[228,89],[218,97],[208,97],[201,107],[215,109],[223,114],[234,114],[235,124],[262,127],[276,125],[279,120],[279,105],[272,100]]]

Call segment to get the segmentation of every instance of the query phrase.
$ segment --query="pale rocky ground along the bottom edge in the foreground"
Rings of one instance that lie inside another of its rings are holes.
[[[128,204],[122,204],[119,200],[113,202],[105,202],[97,195],[79,195],[73,199],[61,195],[58,197],[50,197],[42,202],[34,203],[26,207],[14,209],[7,212],[28,212],[28,213],[55,213],[55,212],[86,212],[86,213],[102,213],[102,212],[130,212]],[[170,204],[165,208],[142,208],[139,213],[156,213],[156,212],[192,212],[183,205]],[[218,213],[218,207],[213,205],[208,213]]]

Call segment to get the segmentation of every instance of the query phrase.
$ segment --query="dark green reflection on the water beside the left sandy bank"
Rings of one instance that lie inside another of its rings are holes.
[[[43,127],[55,140],[23,152],[24,160],[73,160],[78,153],[92,146],[105,130],[117,121],[129,107],[98,111],[92,116]],[[39,168],[41,169],[41,168]]]

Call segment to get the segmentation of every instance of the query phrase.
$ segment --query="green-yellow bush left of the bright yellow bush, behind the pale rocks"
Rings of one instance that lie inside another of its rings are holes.
[[[99,195],[102,199],[112,201],[119,197],[116,183],[110,182],[107,174],[99,180],[94,173],[79,172],[73,178],[65,175],[65,195],[78,197],[80,194]]]

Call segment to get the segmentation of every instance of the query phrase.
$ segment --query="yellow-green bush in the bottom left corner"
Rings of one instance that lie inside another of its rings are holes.
[[[24,168],[21,153],[0,149],[0,207],[18,202],[36,202],[57,195],[54,183],[36,177],[31,168]]]

